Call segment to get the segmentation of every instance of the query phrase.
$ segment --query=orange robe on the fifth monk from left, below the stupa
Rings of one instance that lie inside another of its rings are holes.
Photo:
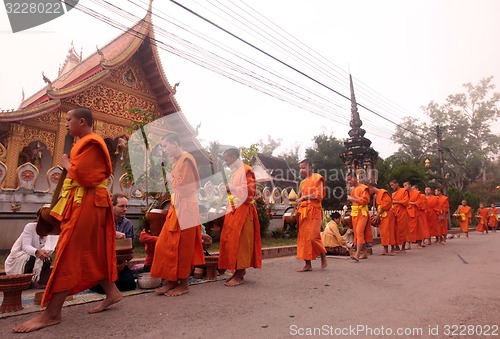
[[[358,184],[358,186],[351,190],[351,196],[359,199],[359,202],[353,201],[351,207],[354,244],[363,245],[367,242],[372,242],[373,235],[371,235],[370,213],[368,211],[368,203],[370,202],[368,186]]]

